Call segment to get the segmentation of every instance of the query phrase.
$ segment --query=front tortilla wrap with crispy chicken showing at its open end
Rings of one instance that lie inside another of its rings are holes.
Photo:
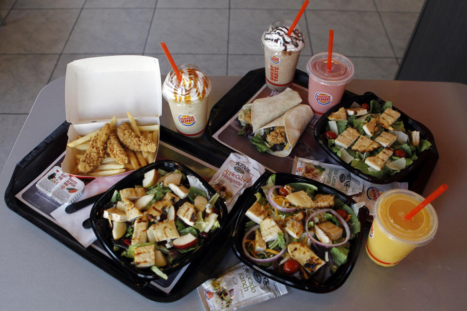
[[[251,142],[259,152],[287,156],[313,119],[313,115],[310,106],[296,105],[276,120],[257,129]]]

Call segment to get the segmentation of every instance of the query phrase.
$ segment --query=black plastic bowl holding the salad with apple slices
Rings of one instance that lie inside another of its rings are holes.
[[[144,173],[152,170],[152,169],[162,169],[166,172],[173,172],[175,170],[179,170],[181,173],[185,175],[193,175],[197,177],[204,187],[208,190],[209,195],[212,197],[216,191],[204,180],[202,179],[197,173],[192,171],[190,168],[184,166],[175,161],[170,160],[162,160],[156,161],[154,163],[148,164],[133,173],[129,174],[121,181],[116,183],[113,187],[111,187],[102,197],[94,204],[90,212],[90,221],[92,230],[96,234],[97,240],[104,246],[105,250],[107,251],[110,258],[115,261],[124,272],[135,282],[135,284],[139,287],[146,286],[154,279],[159,278],[154,272],[152,272],[149,268],[146,269],[137,269],[134,265],[130,262],[132,259],[121,257],[119,254],[113,251],[113,243],[111,241],[112,237],[112,229],[108,225],[108,220],[102,217],[103,211],[106,209],[104,205],[108,203],[112,197],[114,190],[122,190],[125,188],[133,188],[135,185],[141,185],[144,179]],[[227,207],[225,206],[222,200],[217,200],[215,207],[219,209],[219,216],[217,220],[219,221],[220,228],[218,228],[214,234],[212,234],[209,239],[205,240],[205,242],[195,249],[192,252],[187,253],[177,262],[173,263],[168,267],[162,268],[162,272],[166,275],[169,275],[188,263],[195,263],[198,259],[201,259],[203,254],[206,254],[206,250],[210,247],[219,243],[217,241],[218,237],[222,237],[220,233],[227,229]]]

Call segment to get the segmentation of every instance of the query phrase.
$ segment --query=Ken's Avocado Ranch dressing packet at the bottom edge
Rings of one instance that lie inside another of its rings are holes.
[[[230,311],[287,294],[287,288],[239,263],[201,284],[198,294],[206,311]]]

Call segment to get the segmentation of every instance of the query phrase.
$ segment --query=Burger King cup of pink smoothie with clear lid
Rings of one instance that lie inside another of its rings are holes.
[[[354,65],[344,55],[332,53],[328,69],[328,53],[313,55],[307,63],[308,104],[320,118],[327,110],[341,101],[345,86],[354,77]]]

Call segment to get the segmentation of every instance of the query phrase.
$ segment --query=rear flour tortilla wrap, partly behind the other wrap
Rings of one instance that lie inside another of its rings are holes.
[[[288,109],[302,102],[297,91],[286,88],[282,93],[275,96],[259,98],[252,104],[245,104],[242,110],[251,108],[251,125],[253,133],[261,126],[282,116]]]

